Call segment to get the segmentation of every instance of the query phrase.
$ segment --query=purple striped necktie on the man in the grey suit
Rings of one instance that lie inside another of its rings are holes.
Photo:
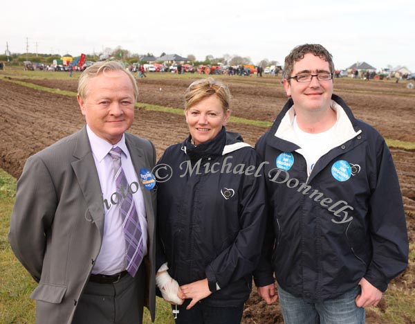
[[[124,229],[125,249],[127,255],[127,268],[131,276],[135,276],[142,262],[142,235],[141,227],[138,222],[138,214],[136,205],[133,201],[133,195],[129,190],[129,184],[125,177],[124,170],[121,167],[120,147],[113,147],[109,151],[109,155],[113,159],[113,168],[117,186],[118,205],[120,206],[120,214],[122,217],[122,228]]]

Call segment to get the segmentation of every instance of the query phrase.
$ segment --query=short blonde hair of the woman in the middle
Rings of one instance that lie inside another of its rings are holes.
[[[214,78],[194,81],[185,92],[185,110],[197,105],[203,99],[216,95],[221,101],[223,111],[230,110],[230,91],[228,86]]]

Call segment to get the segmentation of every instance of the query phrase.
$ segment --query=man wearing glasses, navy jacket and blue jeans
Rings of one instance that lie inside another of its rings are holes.
[[[256,145],[270,231],[255,284],[266,303],[279,296],[286,324],[365,323],[408,262],[391,153],[333,94],[333,71],[323,46],[295,47],[283,72],[291,98]]]

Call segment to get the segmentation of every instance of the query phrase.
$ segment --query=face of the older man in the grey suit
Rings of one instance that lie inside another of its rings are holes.
[[[100,138],[116,144],[134,120],[134,89],[123,71],[105,71],[89,79],[86,96],[78,94],[86,124]]]

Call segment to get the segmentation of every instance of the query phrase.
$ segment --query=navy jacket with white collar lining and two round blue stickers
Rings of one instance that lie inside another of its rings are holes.
[[[311,302],[335,298],[362,277],[385,291],[408,261],[391,153],[376,129],[354,118],[340,97],[332,100],[342,130],[311,174],[301,147],[290,140],[291,99],[256,145],[267,163],[273,230],[267,233],[255,284],[269,285],[275,272],[283,289]]]

